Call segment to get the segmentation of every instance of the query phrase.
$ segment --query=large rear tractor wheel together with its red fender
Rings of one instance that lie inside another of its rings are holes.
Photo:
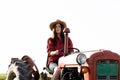
[[[39,77],[39,71],[32,59],[23,56],[21,60],[12,58],[6,80],[39,80]]]

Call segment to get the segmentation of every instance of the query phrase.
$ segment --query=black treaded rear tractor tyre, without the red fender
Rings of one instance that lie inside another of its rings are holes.
[[[11,62],[7,71],[6,80],[39,80],[39,73],[28,69],[29,65],[22,60]],[[36,74],[38,77],[33,77]]]

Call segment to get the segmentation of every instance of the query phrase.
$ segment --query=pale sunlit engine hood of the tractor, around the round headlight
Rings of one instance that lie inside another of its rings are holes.
[[[96,52],[100,52],[101,50],[91,50],[91,51],[84,51],[84,52],[80,52],[80,53],[72,53],[70,55],[67,56],[62,56],[61,58],[59,58],[58,61],[58,65],[59,67],[65,67],[65,66],[80,66],[77,62],[76,62],[76,58],[78,56],[78,54],[85,54],[87,59],[90,58],[90,56]],[[83,64],[83,65],[87,65],[87,63]]]

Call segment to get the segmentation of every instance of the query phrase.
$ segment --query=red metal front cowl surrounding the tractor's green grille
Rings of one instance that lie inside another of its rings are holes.
[[[96,80],[97,61],[99,61],[99,60],[116,60],[116,61],[118,61],[118,80],[120,80],[120,56],[117,53],[114,53],[114,52],[111,52],[108,50],[97,51],[88,58],[87,66],[83,66],[83,67],[87,67],[89,70],[87,73],[84,73],[85,80]]]

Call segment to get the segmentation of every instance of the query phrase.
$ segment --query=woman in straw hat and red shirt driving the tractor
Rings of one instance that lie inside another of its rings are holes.
[[[52,37],[47,41],[48,52],[48,65],[49,69],[54,72],[55,67],[58,65],[58,59],[63,56],[63,52],[59,52],[64,48],[64,33],[63,29],[67,28],[66,23],[61,20],[56,20],[50,23],[50,29],[53,32]],[[68,47],[73,48],[71,39],[68,37]],[[73,50],[68,50],[72,52]]]

